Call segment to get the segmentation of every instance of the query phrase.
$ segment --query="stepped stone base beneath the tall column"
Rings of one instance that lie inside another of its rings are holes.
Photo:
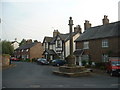
[[[75,66],[61,66],[59,67],[59,71],[53,71],[56,75],[68,76],[68,77],[78,77],[78,76],[89,76],[90,71],[88,71],[85,67]]]

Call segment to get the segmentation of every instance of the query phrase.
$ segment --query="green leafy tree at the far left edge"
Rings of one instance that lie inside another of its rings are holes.
[[[0,45],[2,46],[2,54],[13,55],[14,48],[11,45],[10,41],[4,40],[4,41],[0,42]]]

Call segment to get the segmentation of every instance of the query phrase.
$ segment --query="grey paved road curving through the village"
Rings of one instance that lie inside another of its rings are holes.
[[[5,88],[117,88],[118,78],[92,74],[84,77],[63,77],[52,73],[58,69],[36,63],[14,62],[16,67],[3,70]]]

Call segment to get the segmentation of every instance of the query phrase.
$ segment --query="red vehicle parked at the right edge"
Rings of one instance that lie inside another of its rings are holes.
[[[110,58],[106,66],[107,72],[111,76],[120,76],[120,58]]]

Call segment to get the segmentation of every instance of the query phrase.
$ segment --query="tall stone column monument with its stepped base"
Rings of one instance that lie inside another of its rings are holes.
[[[60,66],[59,71],[53,71],[54,74],[63,75],[63,76],[84,76],[89,75],[90,71],[88,71],[84,66],[75,65],[75,56],[73,55],[73,38],[72,38],[72,26],[73,20],[70,17],[69,20],[69,32],[70,32],[70,55],[68,56],[68,65]]]

